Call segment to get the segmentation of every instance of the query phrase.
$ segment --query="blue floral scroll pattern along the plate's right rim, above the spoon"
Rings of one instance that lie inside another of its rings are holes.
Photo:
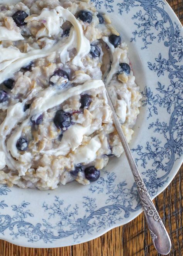
[[[145,147],[138,145],[132,149],[137,153],[137,164],[144,169],[147,163],[148,166],[152,165],[151,169],[142,172],[151,195],[156,195],[158,188],[168,181],[174,162],[183,154],[183,37],[180,25],[172,22],[164,6],[163,0],[124,0],[117,3],[120,15],[130,13],[134,7],[139,9],[132,16],[136,30],[132,32],[131,42],[141,40],[142,50],[149,48],[154,41],[156,44],[163,42],[168,49],[167,56],[159,53],[154,63],[147,61],[147,66],[158,78],[166,75],[169,82],[163,84],[158,81],[156,88],[146,86],[142,92],[143,107],[149,110],[147,119],[158,116],[148,129],[154,128],[155,133],[163,134],[166,142],[157,134],[157,137],[151,137],[151,142],[148,141]],[[170,115],[168,124],[163,121],[163,115],[160,120],[162,111]]]

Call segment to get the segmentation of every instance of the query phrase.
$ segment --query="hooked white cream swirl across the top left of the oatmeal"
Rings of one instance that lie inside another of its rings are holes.
[[[49,15],[50,12],[53,13],[53,10],[48,10],[44,8],[42,12],[47,13]],[[50,45],[49,47],[43,49],[35,49],[30,50],[28,53],[21,53],[16,47],[7,47],[0,49],[0,83],[4,80],[12,77],[16,71],[19,71],[22,66],[26,66],[26,64],[30,63],[34,59],[43,58],[48,56],[49,54],[56,52],[60,54],[61,62],[65,64],[66,61],[69,61],[68,50],[76,47],[77,54],[73,58],[72,63],[76,66],[83,67],[83,63],[81,59],[89,53],[90,51],[90,42],[86,39],[82,26],[80,22],[75,18],[75,16],[69,12],[69,10],[64,9],[59,6],[55,8],[56,17],[59,19],[68,20],[73,25],[74,29],[71,30],[71,34],[69,35],[67,41],[63,44],[61,42],[56,43],[53,47]],[[39,16],[38,16],[39,17]],[[37,17],[28,16],[25,19],[30,22],[31,20],[36,19]],[[50,22],[50,20],[49,20]],[[47,26],[50,27],[50,26]],[[2,57],[1,57],[2,54]],[[7,57],[8,56],[8,57]],[[7,59],[8,58],[8,59]]]

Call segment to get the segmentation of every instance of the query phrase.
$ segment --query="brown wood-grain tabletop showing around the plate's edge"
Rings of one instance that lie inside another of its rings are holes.
[[[183,0],[168,0],[183,24]],[[171,184],[155,200],[155,205],[170,234],[169,256],[183,255],[183,165]],[[144,214],[130,223],[112,229],[90,242],[53,249],[15,246],[0,240],[0,256],[158,256],[151,241]]]

